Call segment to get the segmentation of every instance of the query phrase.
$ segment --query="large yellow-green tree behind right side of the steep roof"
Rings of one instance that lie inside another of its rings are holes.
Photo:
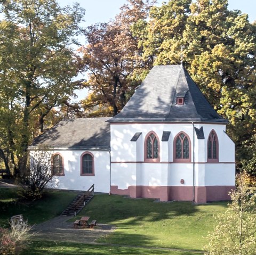
[[[230,121],[227,131],[242,169],[243,160],[255,161],[249,148],[256,134],[256,26],[227,6],[227,0],[171,0],[154,7],[148,22],[135,24],[133,32],[143,57],[154,64],[180,64],[184,47],[183,65]]]

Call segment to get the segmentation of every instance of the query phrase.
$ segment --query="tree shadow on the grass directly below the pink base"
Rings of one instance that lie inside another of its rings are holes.
[[[113,224],[123,220],[131,225],[140,221],[154,222],[196,213],[197,206],[191,202],[154,202],[153,199],[131,199],[121,195],[95,195],[76,218],[93,215],[102,223]]]

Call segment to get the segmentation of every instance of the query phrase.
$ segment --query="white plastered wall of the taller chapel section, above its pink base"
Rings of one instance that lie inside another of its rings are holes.
[[[193,186],[193,147],[195,148],[195,185],[218,186],[234,185],[235,183],[235,148],[234,143],[225,133],[225,125],[195,124],[203,126],[205,139],[197,139],[193,146],[192,124],[111,124],[111,185],[119,189],[129,186]],[[207,139],[214,129],[219,141],[219,162],[207,163]],[[154,131],[159,139],[160,162],[145,163],[144,141],[146,135]],[[163,131],[171,131],[169,141],[162,142]],[[185,132],[191,142],[191,162],[173,162],[174,137]],[[131,138],[142,132],[136,142]]]

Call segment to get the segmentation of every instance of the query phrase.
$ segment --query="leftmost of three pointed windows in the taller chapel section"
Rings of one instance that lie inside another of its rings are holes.
[[[145,138],[145,161],[159,161],[159,140],[153,131],[151,131]]]

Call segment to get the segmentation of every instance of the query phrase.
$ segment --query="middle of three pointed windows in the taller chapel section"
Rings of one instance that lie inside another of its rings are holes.
[[[190,139],[185,132],[180,132],[174,138],[174,161],[191,161]]]

